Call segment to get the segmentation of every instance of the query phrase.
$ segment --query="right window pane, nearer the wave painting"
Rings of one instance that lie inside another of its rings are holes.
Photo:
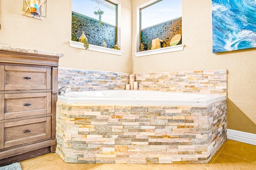
[[[153,0],[140,7],[140,42],[137,51],[150,50],[159,38],[161,47],[169,47],[174,35],[182,35],[182,0]],[[178,42],[181,44],[181,40]]]

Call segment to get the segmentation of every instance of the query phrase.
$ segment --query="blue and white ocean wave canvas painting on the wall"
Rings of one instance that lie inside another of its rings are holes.
[[[256,47],[256,0],[212,0],[212,52]]]

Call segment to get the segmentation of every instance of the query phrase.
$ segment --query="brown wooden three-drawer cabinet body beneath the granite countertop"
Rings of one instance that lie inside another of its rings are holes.
[[[0,50],[0,166],[55,152],[58,59]]]

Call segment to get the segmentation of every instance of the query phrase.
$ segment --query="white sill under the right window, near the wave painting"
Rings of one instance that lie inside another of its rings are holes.
[[[184,46],[185,46],[184,44],[181,44],[181,45],[175,45],[171,47],[164,47],[160,49],[140,51],[140,52],[134,53],[134,55],[135,57],[142,57],[145,55],[154,55],[154,54],[169,53],[174,51],[182,51],[184,49]]]

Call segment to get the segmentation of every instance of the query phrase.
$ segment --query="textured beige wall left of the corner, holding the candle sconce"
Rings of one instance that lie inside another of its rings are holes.
[[[63,53],[64,57],[59,62],[60,67],[131,72],[132,1],[119,2],[122,8],[122,56],[69,46],[71,0],[48,0],[44,20],[21,15],[21,0],[0,0],[0,45]]]

